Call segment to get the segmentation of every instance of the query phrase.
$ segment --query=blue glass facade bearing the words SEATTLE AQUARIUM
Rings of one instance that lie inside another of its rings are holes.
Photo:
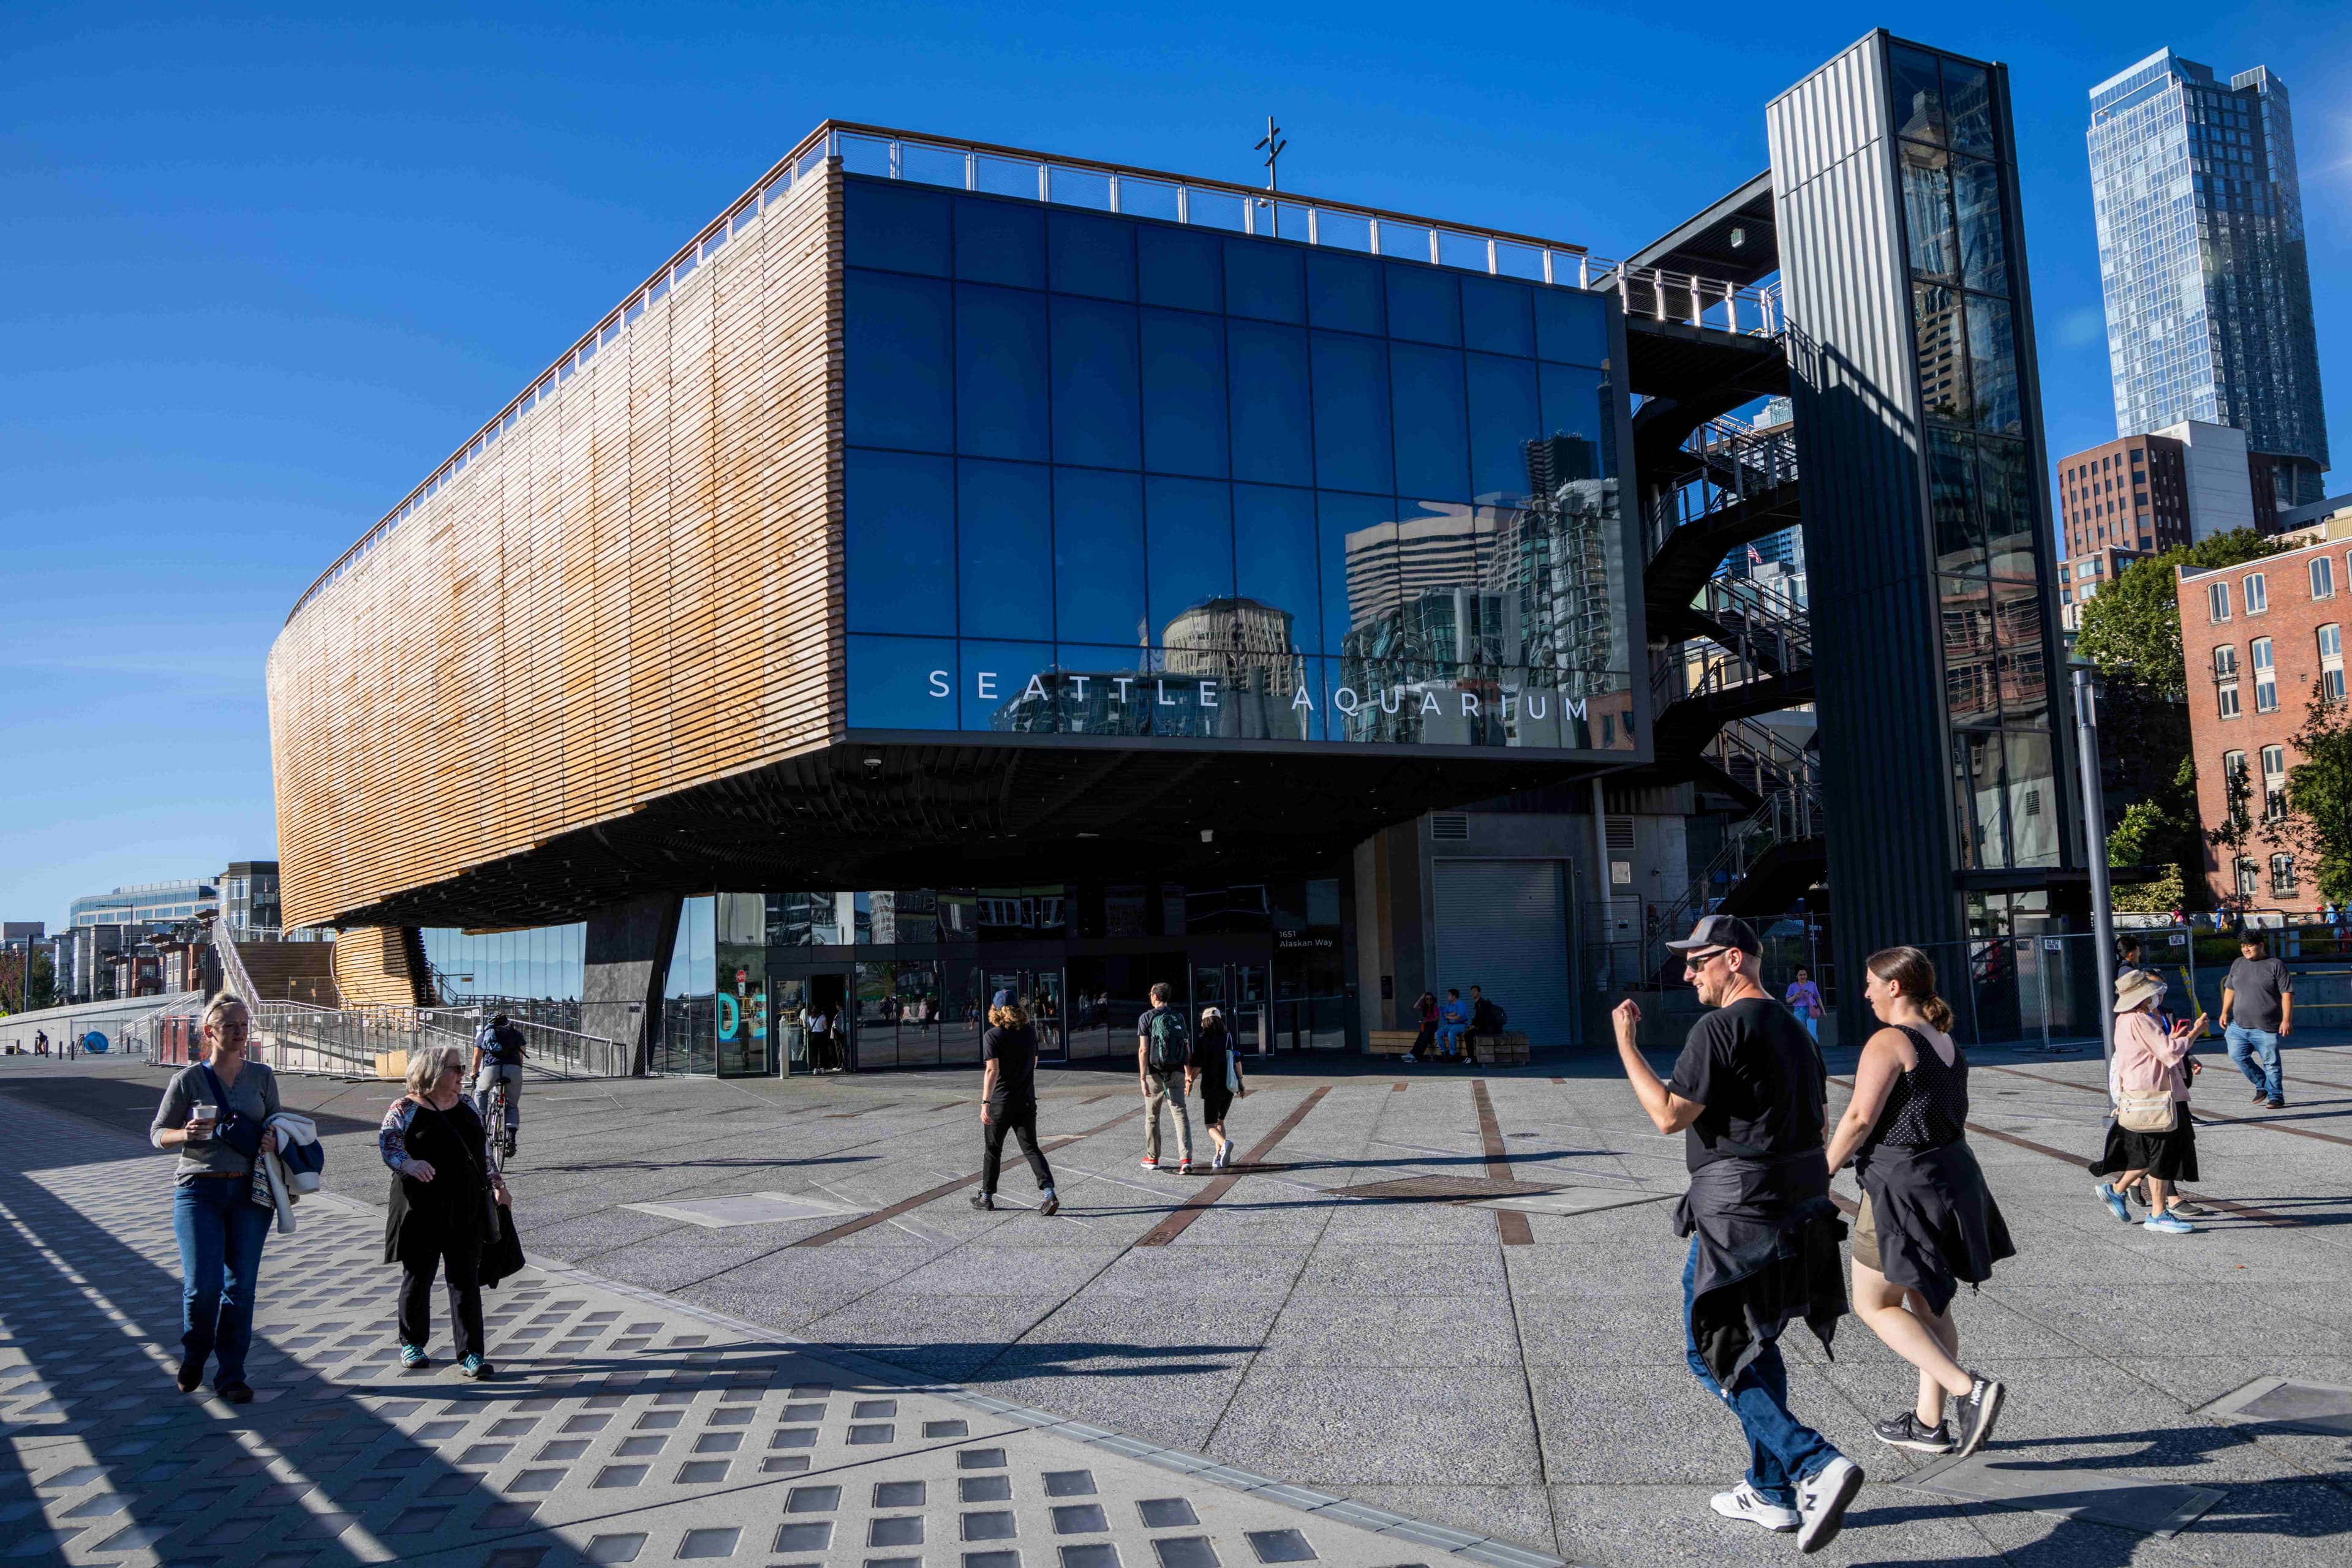
[[[844,261],[851,729],[1632,745],[1606,296],[870,179]]]

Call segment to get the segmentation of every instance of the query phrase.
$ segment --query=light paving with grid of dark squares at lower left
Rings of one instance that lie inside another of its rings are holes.
[[[181,1396],[169,1161],[47,1112],[5,1147],[5,1563],[1557,1563],[567,1267],[489,1293],[494,1382],[407,1373],[332,1197],[268,1241],[256,1401]]]

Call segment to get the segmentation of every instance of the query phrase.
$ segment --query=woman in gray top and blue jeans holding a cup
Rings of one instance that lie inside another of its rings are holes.
[[[162,1091],[148,1140],[179,1150],[172,1232],[179,1237],[179,1392],[193,1394],[214,1363],[212,1389],[247,1403],[245,1352],[254,1340],[254,1284],[273,1211],[254,1201],[254,1157],[278,1147],[278,1077],[245,1060],[252,1013],[230,994],[205,1009],[205,1060]]]

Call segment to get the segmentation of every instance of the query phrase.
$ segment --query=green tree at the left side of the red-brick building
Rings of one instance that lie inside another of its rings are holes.
[[[2107,835],[2107,865],[2169,865],[2178,879],[2150,882],[2138,891],[2119,889],[2117,907],[2129,910],[2173,886],[2185,907],[2209,907],[2211,893],[2201,875],[2206,842],[2230,846],[2223,856],[2227,865],[2251,827],[2251,820],[2241,820],[2241,809],[2237,818],[2220,823],[2223,837],[2206,835],[2197,820],[2176,569],[2234,567],[2274,552],[2277,545],[2253,529],[2216,534],[2124,567],[2082,607],[2074,651],[2098,668],[2105,689],[2100,759],[2110,797],[2124,802],[2117,827]]]

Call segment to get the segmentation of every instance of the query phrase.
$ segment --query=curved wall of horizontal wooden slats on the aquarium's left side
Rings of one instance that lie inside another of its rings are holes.
[[[840,209],[802,181],[287,623],[287,924],[842,731]]]

